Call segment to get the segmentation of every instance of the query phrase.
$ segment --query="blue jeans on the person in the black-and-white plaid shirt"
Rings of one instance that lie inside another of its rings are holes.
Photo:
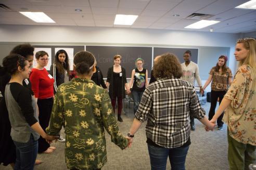
[[[148,144],[151,170],[165,170],[168,156],[172,170],[185,169],[188,148],[189,146],[169,149]]]

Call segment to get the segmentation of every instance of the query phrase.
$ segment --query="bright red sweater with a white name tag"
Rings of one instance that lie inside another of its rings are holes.
[[[54,96],[54,78],[45,68],[42,70],[32,68],[29,80],[35,98],[44,99]]]

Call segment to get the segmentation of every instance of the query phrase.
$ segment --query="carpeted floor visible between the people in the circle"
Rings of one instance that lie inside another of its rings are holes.
[[[123,123],[119,123],[121,132],[126,135],[129,132],[133,121],[133,103],[130,105],[129,113],[123,114]],[[203,105],[207,115],[210,104]],[[127,110],[127,109],[126,109]],[[227,129],[226,125],[222,131],[215,129],[213,132],[206,132],[204,126],[196,122],[196,131],[191,132],[191,145],[186,158],[187,170],[225,170],[228,169],[227,163]],[[110,136],[106,134],[107,139],[107,158],[108,162],[103,170],[111,169],[150,169],[149,155],[147,151],[145,124],[135,134],[132,148],[121,150],[111,143]],[[63,131],[62,131],[63,133]],[[53,144],[57,149],[50,154],[39,154],[37,159],[43,160],[41,165],[34,169],[67,169],[64,156],[65,143]],[[12,169],[10,166],[0,165],[0,169]],[[171,169],[170,163],[167,163],[167,169]]]

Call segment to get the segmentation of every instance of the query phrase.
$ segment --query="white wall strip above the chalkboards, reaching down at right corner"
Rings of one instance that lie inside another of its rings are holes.
[[[240,36],[240,34],[227,33],[112,27],[0,25],[0,42],[29,42],[32,44],[52,42],[55,45],[74,43],[81,45],[228,47],[230,48],[229,67],[233,73],[236,69],[233,53],[236,40]],[[198,58],[203,57],[199,52]],[[215,65],[216,62],[210,64]]]

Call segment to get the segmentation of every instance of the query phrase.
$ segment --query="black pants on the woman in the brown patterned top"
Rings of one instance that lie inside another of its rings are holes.
[[[213,90],[211,91],[211,108],[209,111],[209,120],[211,120],[215,114],[215,108],[217,105],[218,97],[219,97],[219,105],[220,105],[225,94],[226,94],[226,91],[213,91]],[[222,122],[223,114],[224,113],[222,113],[221,116],[217,119],[218,126],[223,125],[223,122]]]

